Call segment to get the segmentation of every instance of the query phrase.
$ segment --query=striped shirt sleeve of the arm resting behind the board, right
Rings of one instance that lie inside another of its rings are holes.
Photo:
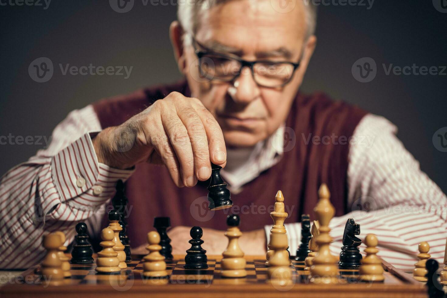
[[[354,130],[348,155],[348,205],[351,212],[334,217],[329,226],[331,252],[338,256],[348,218],[379,240],[378,256],[395,267],[412,271],[417,246],[426,241],[431,257],[443,262],[447,237],[447,197],[421,171],[419,163],[396,137],[387,119],[368,114]],[[286,220],[287,221],[287,220]],[[300,223],[284,225],[292,255],[301,242]],[[267,243],[271,225],[265,226]],[[362,243],[363,253],[366,246]]]

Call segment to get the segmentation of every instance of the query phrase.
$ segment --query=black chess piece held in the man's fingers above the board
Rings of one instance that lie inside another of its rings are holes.
[[[211,164],[211,178],[208,186],[208,201],[210,210],[226,209],[233,206],[233,201],[230,199],[230,191],[227,189],[227,183],[222,180],[220,176],[222,167]]]

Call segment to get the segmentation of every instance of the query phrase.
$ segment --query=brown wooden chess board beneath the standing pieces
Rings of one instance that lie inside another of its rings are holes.
[[[0,288],[0,297],[427,297],[423,283],[385,262],[384,282],[358,280],[358,270],[341,270],[339,284],[321,285],[311,283],[303,262],[293,260],[291,283],[281,286],[268,281],[263,256],[245,257],[245,278],[222,277],[221,256],[208,256],[206,270],[183,269],[183,257],[166,261],[169,276],[161,279],[143,276],[140,255],[113,275],[97,274],[96,264],[72,264],[72,277],[58,283],[45,280],[35,266]]]

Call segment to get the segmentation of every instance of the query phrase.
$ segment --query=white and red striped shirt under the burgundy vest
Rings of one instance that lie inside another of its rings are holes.
[[[228,151],[228,167],[222,176],[232,192],[240,191],[278,162],[283,155],[284,129],[257,144],[246,153],[246,162],[238,166],[232,166],[230,160],[239,153]],[[354,218],[361,225],[362,240],[369,233],[378,236],[379,256],[398,268],[412,270],[417,244],[422,241],[430,244],[433,258],[443,260],[447,204],[446,196],[396,138],[396,130],[385,118],[371,114],[356,127],[348,155],[352,212],[332,219],[331,251],[340,252],[346,220]],[[98,131],[101,125],[91,105],[74,110],[56,126],[48,148],[1,178],[0,268],[26,268],[37,263],[45,255],[42,235],[63,231],[70,243],[79,221],[87,222],[90,233],[99,233],[116,181],[127,180],[133,171],[98,163],[92,144]],[[366,136],[373,136],[372,142],[365,140]],[[301,227],[287,223],[286,229],[293,254]],[[270,227],[265,230],[269,238]]]

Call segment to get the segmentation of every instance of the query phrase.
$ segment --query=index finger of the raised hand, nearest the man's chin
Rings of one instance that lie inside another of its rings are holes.
[[[214,116],[198,99],[194,98],[192,105],[205,127],[211,162],[224,167],[227,163],[227,148],[225,147],[225,140],[223,139],[223,133],[219,123],[217,123]]]

